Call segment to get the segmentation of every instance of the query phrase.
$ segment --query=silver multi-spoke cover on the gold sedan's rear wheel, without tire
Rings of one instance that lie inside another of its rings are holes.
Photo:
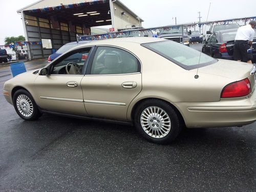
[[[140,124],[144,132],[154,138],[165,137],[171,129],[170,117],[158,106],[149,106],[140,116]]]

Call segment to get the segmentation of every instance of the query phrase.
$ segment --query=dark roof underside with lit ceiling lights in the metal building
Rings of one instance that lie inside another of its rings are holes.
[[[73,25],[84,24],[86,27],[112,24],[111,14],[109,14],[109,0],[86,1],[83,3],[73,3],[67,5],[57,5],[56,2],[55,4],[52,4],[56,6],[39,8],[39,5],[33,4],[17,10],[17,12],[23,11],[26,15],[45,19],[50,19],[51,16],[54,16],[59,22],[72,22]],[[39,1],[38,3],[42,3],[42,1]],[[40,5],[40,7],[42,5]]]

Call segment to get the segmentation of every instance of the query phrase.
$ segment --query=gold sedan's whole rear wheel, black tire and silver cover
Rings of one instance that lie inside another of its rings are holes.
[[[138,132],[148,141],[168,144],[182,130],[182,120],[173,107],[165,101],[143,101],[135,111],[134,122]]]

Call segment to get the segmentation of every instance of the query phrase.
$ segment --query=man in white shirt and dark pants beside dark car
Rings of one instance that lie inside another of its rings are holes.
[[[251,20],[248,25],[238,29],[237,35],[234,38],[234,60],[252,63],[252,40],[256,20]]]

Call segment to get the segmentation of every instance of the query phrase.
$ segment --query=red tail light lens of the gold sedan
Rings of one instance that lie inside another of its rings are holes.
[[[221,97],[244,97],[251,93],[251,85],[248,78],[228,84],[223,90]]]

